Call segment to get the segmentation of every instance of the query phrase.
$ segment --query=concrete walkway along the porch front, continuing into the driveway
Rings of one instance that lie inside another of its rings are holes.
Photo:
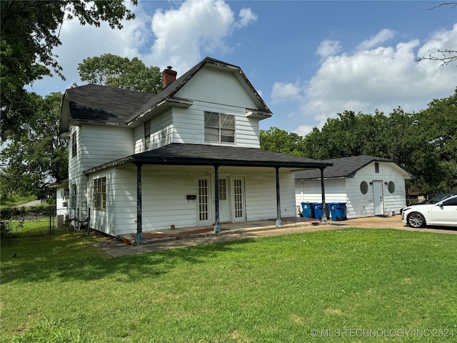
[[[289,220],[289,221],[288,221]],[[144,254],[160,250],[179,247],[191,247],[214,242],[227,242],[237,239],[248,239],[281,234],[294,234],[300,232],[316,232],[336,230],[346,227],[361,227],[368,229],[402,229],[407,231],[434,232],[442,234],[457,234],[457,228],[427,228],[413,229],[401,222],[400,216],[393,217],[368,217],[348,219],[342,222],[319,223],[316,220],[283,219],[283,226],[276,227],[271,220],[221,224],[221,232],[214,233],[213,228],[184,228],[164,230],[162,232],[144,233],[145,244],[135,245],[135,235],[125,235],[109,242],[96,242],[92,246],[113,257],[132,254]],[[133,243],[133,244],[132,244]]]

